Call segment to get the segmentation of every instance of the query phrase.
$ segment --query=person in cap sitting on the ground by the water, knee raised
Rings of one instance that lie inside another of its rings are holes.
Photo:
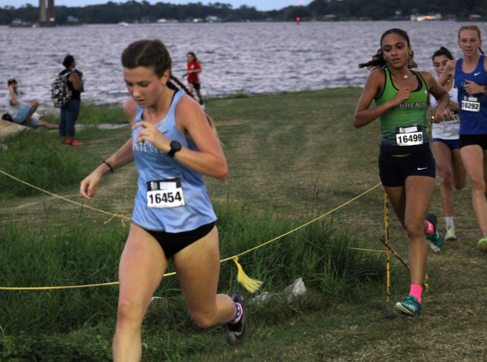
[[[34,113],[39,107],[39,102],[34,99],[28,104],[24,102],[22,94],[19,92],[19,85],[15,79],[9,79],[7,82],[9,86],[10,96],[7,101],[7,112],[12,118],[13,122],[27,127],[46,127],[48,129],[57,129],[58,125],[48,123],[37,118],[33,118]]]

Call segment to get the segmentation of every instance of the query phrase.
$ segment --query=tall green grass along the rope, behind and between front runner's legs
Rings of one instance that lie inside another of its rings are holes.
[[[222,258],[236,255],[296,226],[295,222],[270,212],[255,214],[248,208],[226,204],[215,208],[219,216]],[[118,223],[101,227],[81,219],[72,225],[47,226],[36,231],[13,222],[4,223],[0,226],[0,260],[4,261],[0,263],[0,285],[77,285],[116,281],[126,233],[127,230]],[[356,288],[371,280],[377,282],[382,278],[382,262],[375,255],[348,249],[349,245],[358,243],[346,233],[334,230],[333,223],[316,223],[242,256],[240,262],[248,275],[264,281],[262,291],[278,292],[302,276],[310,289],[307,307],[319,309],[321,302],[313,302],[313,295],[321,296],[320,301],[336,299],[353,294]],[[222,264],[219,290],[242,289],[236,275],[233,262]],[[40,351],[29,349],[30,352],[25,352],[37,353],[34,355],[40,358],[43,353],[58,353],[61,358],[62,350],[70,351],[72,356],[83,356],[81,350],[102,347],[109,354],[117,294],[117,286],[0,292],[0,326],[7,335],[3,343],[0,341],[0,355],[20,356],[12,352],[14,347],[20,351],[28,349],[26,346],[29,345],[44,346]],[[146,316],[146,355],[156,356],[162,348],[171,351],[171,358],[183,358],[206,348],[201,339],[208,339],[215,330],[203,335],[197,332],[181,297],[177,278],[165,278],[156,296],[165,300],[151,308]],[[270,320],[276,318],[275,308],[275,305],[273,308],[261,307],[259,320],[265,320],[267,314]],[[286,308],[282,306],[281,310]],[[88,334],[91,337],[82,332],[85,330],[92,331]],[[93,337],[96,335],[100,337]],[[54,339],[58,341],[57,347],[46,347]],[[85,357],[79,358],[83,360]]]

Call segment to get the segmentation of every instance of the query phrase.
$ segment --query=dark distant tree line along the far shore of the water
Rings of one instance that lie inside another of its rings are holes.
[[[280,10],[257,11],[254,7],[241,6],[234,9],[230,4],[194,3],[174,5],[168,3],[149,4],[147,1],[108,2],[103,5],[84,7],[56,6],[56,22],[64,24],[68,17],[81,23],[154,22],[158,19],[206,19],[209,16],[221,21],[290,21],[325,19],[400,19],[411,14],[436,14],[468,18],[471,14],[487,18],[484,1],[478,0],[314,0],[308,6],[290,6]],[[31,5],[20,8],[0,8],[0,24],[7,25],[14,19],[34,23],[39,19],[39,9]]]

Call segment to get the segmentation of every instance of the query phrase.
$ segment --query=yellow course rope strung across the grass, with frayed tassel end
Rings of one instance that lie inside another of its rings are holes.
[[[120,218],[120,220],[122,221],[122,224],[123,224],[123,219],[131,220],[130,218],[127,218],[127,216],[124,216],[122,214],[115,214],[115,213],[111,213],[111,212],[107,212],[107,211],[104,211],[104,210],[100,210],[100,209],[97,209],[97,208],[94,208],[94,207],[91,207],[91,206],[83,205],[83,204],[81,204],[79,202],[76,202],[76,201],[67,199],[65,197],[62,197],[62,196],[53,194],[53,193],[51,193],[49,191],[46,191],[46,190],[43,190],[43,189],[40,189],[37,186],[31,185],[31,184],[29,184],[29,183],[27,183],[27,182],[25,182],[25,181],[23,181],[23,180],[15,177],[15,176],[12,176],[11,174],[8,174],[7,172],[4,172],[2,170],[0,170],[0,173],[6,175],[8,177],[11,177],[11,178],[17,180],[18,182],[20,182],[22,184],[25,184],[27,186],[30,186],[30,187],[32,187],[32,188],[34,188],[36,190],[39,190],[39,191],[44,192],[44,193],[46,193],[48,195],[57,197],[58,199],[61,199],[61,200],[64,200],[64,201],[68,201],[68,202],[71,202],[73,204],[79,205],[81,207],[89,208],[89,209],[94,210],[94,211],[99,211],[99,212],[102,212],[102,213],[111,215],[111,218],[109,220],[107,220],[104,224],[107,224],[113,218]],[[329,214],[331,214],[331,213],[333,213],[333,212],[341,209],[342,207],[348,205],[352,201],[355,201],[356,199],[358,199],[358,198],[364,196],[365,194],[371,192],[372,190],[376,189],[380,185],[381,184],[379,183],[379,184],[371,187],[369,190],[363,192],[362,194],[360,194],[358,196],[355,196],[354,198],[348,200],[347,202],[341,204],[340,206],[337,206],[334,209],[332,209],[332,210],[330,210],[330,211],[328,211],[328,212],[326,212],[326,213],[318,216],[317,218],[315,218],[315,219],[307,222],[306,224],[303,224],[303,225],[301,225],[301,226],[299,226],[299,227],[297,227],[297,228],[295,228],[293,230],[290,230],[290,231],[288,231],[288,232],[286,232],[286,233],[284,233],[284,234],[282,234],[282,235],[280,235],[278,237],[275,237],[274,239],[271,239],[269,241],[266,241],[266,242],[264,242],[262,244],[259,244],[259,245],[255,246],[253,248],[250,248],[250,249],[248,249],[246,251],[243,251],[240,254],[237,254],[237,255],[235,255],[233,257],[229,257],[229,258],[226,258],[226,259],[222,259],[222,260],[220,260],[220,263],[224,263],[224,262],[227,262],[229,260],[233,260],[235,262],[235,264],[237,265],[237,268],[238,268],[237,279],[239,280],[240,283],[242,283],[242,285],[244,285],[244,287],[248,291],[250,291],[250,292],[253,293],[253,292],[255,292],[258,289],[258,287],[262,284],[262,282],[259,281],[259,280],[251,279],[251,278],[249,278],[244,273],[244,271],[242,269],[242,266],[238,262],[238,258],[239,257],[241,257],[242,255],[248,254],[250,251],[256,250],[256,249],[261,248],[261,247],[263,247],[265,245],[268,245],[270,243],[273,243],[274,241],[277,241],[277,240],[283,238],[284,236],[287,236],[287,235],[289,235],[291,233],[294,233],[294,232],[296,232],[296,231],[298,231],[298,230],[300,230],[300,229],[302,229],[302,228],[304,228],[304,227],[306,227],[306,226],[308,226],[308,225],[310,225],[310,224],[312,224],[312,223],[314,223],[314,222],[316,222],[316,221],[324,218],[324,216],[327,216],[327,215],[329,215]],[[335,245],[330,245],[330,246],[335,246]],[[385,252],[384,250],[363,249],[363,248],[356,248],[356,247],[348,247],[348,248],[349,249],[353,249],[353,250],[361,250],[361,251]],[[175,275],[175,274],[176,274],[175,272],[166,273],[166,274],[164,274],[164,276],[171,276],[171,275]],[[68,285],[68,286],[37,286],[37,287],[6,287],[6,286],[0,286],[0,291],[34,291],[34,290],[47,290],[47,289],[74,289],[74,288],[87,288],[87,287],[93,287],[93,286],[116,285],[118,283],[119,283],[118,281],[115,281],[115,282],[110,282],[110,283],[85,284],[85,285]]]

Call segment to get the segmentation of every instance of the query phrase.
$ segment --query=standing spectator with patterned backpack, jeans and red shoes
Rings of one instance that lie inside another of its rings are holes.
[[[72,55],[67,55],[62,65],[66,69],[59,73],[52,85],[52,99],[54,105],[61,108],[61,122],[59,134],[61,142],[70,146],[83,146],[75,137],[75,123],[78,120],[81,107],[81,92],[83,89],[83,73],[76,70],[76,60]]]

